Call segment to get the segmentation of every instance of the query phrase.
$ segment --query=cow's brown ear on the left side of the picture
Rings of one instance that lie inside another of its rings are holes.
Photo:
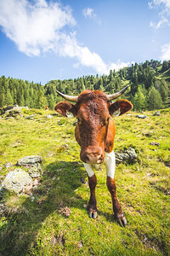
[[[66,112],[71,112],[74,116],[77,114],[77,108],[75,105],[72,105],[70,102],[59,102],[55,105],[54,110],[63,116],[67,117]]]

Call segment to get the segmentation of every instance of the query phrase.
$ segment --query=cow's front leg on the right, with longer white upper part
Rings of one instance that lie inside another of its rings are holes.
[[[105,153],[105,166],[107,171],[107,188],[111,193],[113,212],[115,213],[116,219],[121,226],[127,224],[127,220],[123,215],[122,207],[116,196],[116,182],[115,182],[115,153],[112,151],[110,154]]]

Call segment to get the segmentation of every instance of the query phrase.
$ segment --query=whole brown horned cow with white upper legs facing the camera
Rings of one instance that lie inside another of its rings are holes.
[[[133,105],[127,100],[118,100],[113,103],[111,101],[121,96],[127,87],[110,96],[100,90],[85,90],[79,96],[66,96],[57,91],[59,96],[69,102],[59,102],[54,108],[65,117],[67,111],[77,117],[75,137],[81,147],[80,158],[88,172],[90,188],[89,217],[97,218],[95,198],[97,178],[93,165],[105,162],[107,188],[111,193],[113,211],[122,226],[127,224],[127,220],[116,197],[115,154],[113,151],[115,123],[111,116],[116,111],[119,111],[120,115],[126,113],[133,108]],[[70,102],[76,102],[76,104],[73,105]]]

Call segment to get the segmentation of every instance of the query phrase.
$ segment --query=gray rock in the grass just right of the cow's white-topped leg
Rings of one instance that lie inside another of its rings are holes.
[[[134,148],[125,149],[123,153],[115,152],[115,155],[116,155],[116,164],[121,164],[121,163],[133,164],[136,162],[138,158]]]

